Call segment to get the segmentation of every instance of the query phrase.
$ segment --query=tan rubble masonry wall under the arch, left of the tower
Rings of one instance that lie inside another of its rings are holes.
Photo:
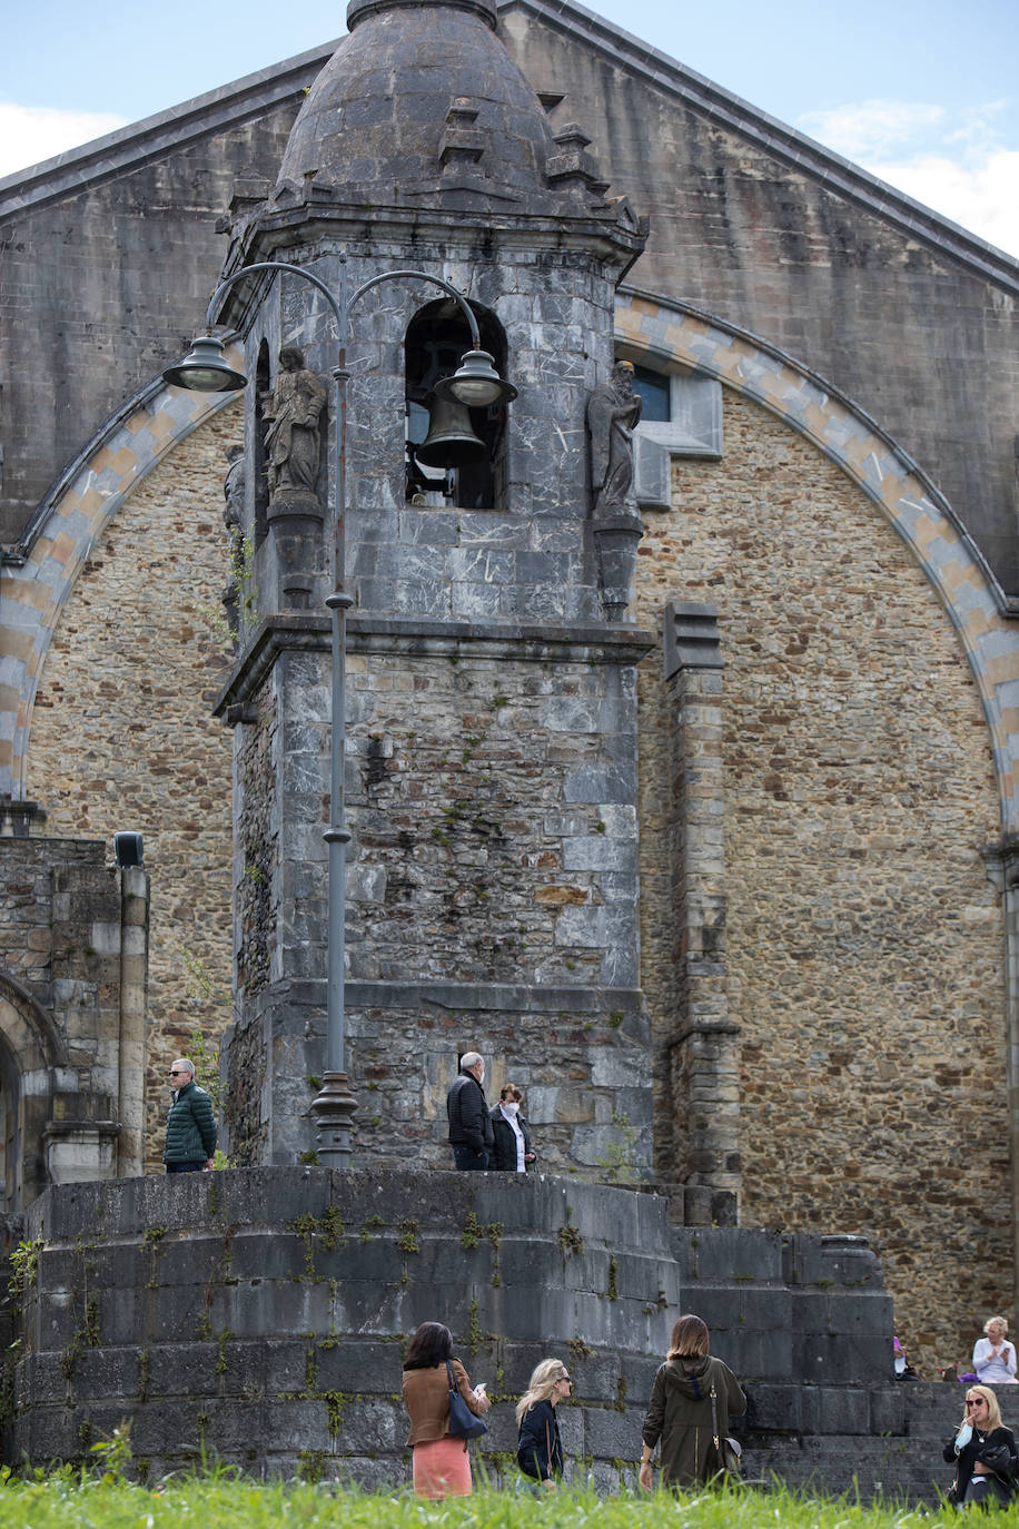
[[[231,735],[211,625],[228,547],[217,491],[237,411],[139,485],[81,572],[41,676],[29,792],[47,835],[144,835],[151,878],[148,1161],[162,1153],[167,1067],[229,1018]]]

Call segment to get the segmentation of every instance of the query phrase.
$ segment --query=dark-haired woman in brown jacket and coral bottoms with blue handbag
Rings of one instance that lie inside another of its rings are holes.
[[[406,1442],[414,1451],[419,1497],[471,1495],[471,1454],[464,1434],[451,1433],[451,1391],[475,1417],[484,1417],[492,1405],[484,1385],[472,1387],[460,1359],[454,1359],[449,1329],[422,1323],[403,1361],[403,1405],[411,1419]]]

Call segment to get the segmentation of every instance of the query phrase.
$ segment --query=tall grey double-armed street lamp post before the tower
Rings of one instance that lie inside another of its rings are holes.
[[[312,271],[284,260],[257,261],[234,271],[222,281],[209,300],[206,333],[199,335],[189,353],[176,367],[163,372],[163,379],[176,387],[196,388],[200,393],[237,391],[247,385],[247,378],[226,362],[223,341],[212,335],[212,323],[220,298],[244,277],[255,271],[281,271],[310,281],[322,294],[336,320],[338,358],[333,367],[333,544],[332,584],[325,604],[332,613],[332,719],[330,719],[330,824],[324,838],[328,844],[328,959],[327,959],[327,1021],[325,1021],[325,1067],[322,1084],[312,1101],[318,1130],[319,1162],[330,1168],[345,1168],[350,1162],[351,1118],[357,1109],[345,1072],[345,1021],[344,1021],[344,913],[347,879],[347,827],[344,763],[345,763],[345,670],[347,670],[347,610],[353,596],[345,589],[345,520],[347,520],[347,339],[350,313],[361,298],[383,281],[429,281],[452,297],[463,312],[471,330],[472,349],[464,353],[454,376],[438,384],[460,404],[483,408],[489,404],[509,402],[516,398],[516,388],[504,382],[492,356],[481,350],[478,321],[466,297],[442,277],[425,271],[385,271],[362,283],[353,295],[347,294],[347,255],[339,255],[339,297]]]

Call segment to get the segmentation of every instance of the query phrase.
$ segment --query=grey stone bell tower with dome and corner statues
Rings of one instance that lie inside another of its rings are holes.
[[[338,335],[313,283],[241,275],[286,261],[350,304],[353,1161],[452,1167],[445,1092],[475,1049],[490,1083],[524,1089],[542,1167],[625,1159],[637,1177],[636,665],[651,638],[626,616],[636,509],[596,506],[588,399],[645,228],[584,133],[553,136],[493,0],[353,0],[347,20],[275,188],[235,199],[218,313],[258,378],[220,697],[235,729],[229,1150],[313,1153],[322,1073]],[[510,384],[495,402],[451,390],[472,346]]]

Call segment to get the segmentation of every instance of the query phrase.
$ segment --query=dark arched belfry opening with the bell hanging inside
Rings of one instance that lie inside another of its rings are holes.
[[[506,376],[506,335],[487,309],[472,304],[481,350]],[[466,408],[440,402],[434,387],[454,375],[472,349],[471,329],[452,298],[426,303],[405,342],[406,498],[412,505],[493,509],[503,502],[506,407]]]

